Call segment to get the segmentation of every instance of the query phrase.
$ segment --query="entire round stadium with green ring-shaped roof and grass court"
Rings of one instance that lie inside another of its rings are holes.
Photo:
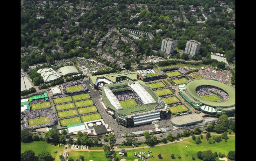
[[[179,94],[195,109],[211,115],[235,113],[235,89],[207,79],[197,79],[179,85]]]

